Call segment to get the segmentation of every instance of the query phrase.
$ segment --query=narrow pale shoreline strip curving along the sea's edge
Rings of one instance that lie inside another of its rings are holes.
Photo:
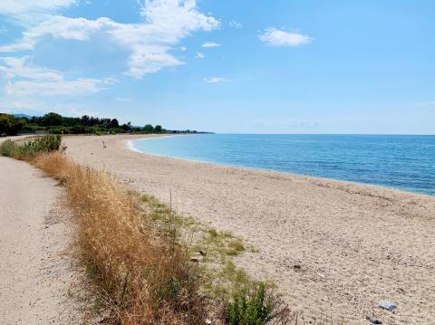
[[[369,187],[372,187],[373,189],[391,190],[391,191],[399,192],[402,194],[435,197],[435,195],[430,195],[427,193],[414,192],[411,190],[407,191],[407,190],[397,188],[397,187],[382,186],[382,185],[372,184],[372,183],[353,182],[353,181],[346,180],[346,179],[337,179],[337,178],[330,178],[330,177],[316,177],[316,176],[308,175],[308,174],[290,173],[290,172],[279,171],[279,170],[268,169],[268,168],[261,168],[261,167],[247,167],[247,166],[242,167],[242,166],[235,166],[235,165],[220,164],[218,162],[210,162],[210,161],[204,161],[204,160],[196,160],[196,159],[189,159],[189,158],[179,158],[179,157],[173,157],[173,156],[158,155],[158,154],[153,154],[150,152],[142,152],[142,151],[140,151],[140,149],[135,148],[134,145],[131,143],[132,141],[136,141],[136,140],[155,139],[155,138],[163,139],[163,138],[172,138],[172,137],[178,137],[178,136],[179,135],[165,135],[165,136],[161,136],[161,137],[157,136],[157,137],[146,137],[146,138],[138,138],[138,139],[125,139],[125,143],[126,143],[126,148],[129,148],[132,152],[136,152],[136,153],[139,153],[141,155],[146,155],[146,156],[151,156],[151,157],[156,157],[156,158],[169,158],[169,159],[175,159],[175,160],[180,160],[180,161],[192,162],[192,163],[196,163],[196,164],[207,164],[207,165],[211,165],[211,166],[215,166],[215,167],[238,168],[238,169],[245,170],[247,172],[249,172],[249,171],[266,172],[266,173],[273,173],[273,174],[278,174],[278,175],[282,175],[282,176],[302,177],[305,179],[312,178],[314,181],[317,180],[317,181],[324,181],[324,182],[335,182],[335,183],[337,183],[337,185],[342,185],[342,186],[346,186],[346,185],[369,186]],[[187,135],[184,135],[184,136],[187,136]]]

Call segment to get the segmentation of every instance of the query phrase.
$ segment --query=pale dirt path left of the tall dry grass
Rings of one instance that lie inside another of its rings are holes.
[[[68,217],[55,207],[62,189],[21,161],[0,157],[0,324],[74,324],[78,279],[64,253]]]

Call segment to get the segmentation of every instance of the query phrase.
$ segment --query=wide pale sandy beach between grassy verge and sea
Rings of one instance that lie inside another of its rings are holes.
[[[294,310],[349,324],[435,324],[435,197],[144,155],[127,139],[65,143],[78,162],[165,202],[172,191],[179,211],[255,245],[260,253],[237,264],[274,280]],[[381,300],[399,308],[382,311]]]

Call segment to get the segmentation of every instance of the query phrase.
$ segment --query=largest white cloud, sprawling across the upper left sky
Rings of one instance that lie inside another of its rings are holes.
[[[73,2],[57,0],[57,3]],[[219,27],[216,18],[200,13],[196,6],[195,0],[146,0],[140,7],[144,19],[141,24],[121,24],[105,17],[89,20],[52,14],[44,17],[42,23],[29,27],[19,42],[0,46],[0,52],[31,50],[45,35],[75,41],[88,41],[93,35],[101,35],[130,50],[126,74],[141,78],[146,73],[184,64],[169,53],[172,46],[191,33]]]

